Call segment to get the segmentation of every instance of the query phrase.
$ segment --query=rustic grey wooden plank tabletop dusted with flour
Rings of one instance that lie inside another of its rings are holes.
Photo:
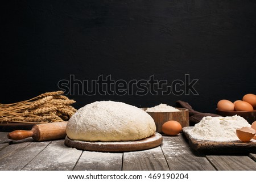
[[[163,136],[161,146],[126,153],[76,150],[64,139],[11,141],[0,132],[0,170],[256,170],[256,154],[203,155],[192,151],[182,134]]]

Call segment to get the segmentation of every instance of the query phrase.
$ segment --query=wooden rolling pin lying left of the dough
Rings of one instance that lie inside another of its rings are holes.
[[[34,125],[31,130],[15,130],[7,134],[9,139],[32,137],[35,141],[61,139],[66,136],[67,121]]]

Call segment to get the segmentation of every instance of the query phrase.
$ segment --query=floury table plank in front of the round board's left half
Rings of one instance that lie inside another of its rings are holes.
[[[74,170],[121,171],[122,153],[84,151]]]

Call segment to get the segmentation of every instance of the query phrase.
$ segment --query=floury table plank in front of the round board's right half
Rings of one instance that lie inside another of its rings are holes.
[[[162,149],[158,146],[154,149],[124,153],[122,170],[164,171],[169,168]]]

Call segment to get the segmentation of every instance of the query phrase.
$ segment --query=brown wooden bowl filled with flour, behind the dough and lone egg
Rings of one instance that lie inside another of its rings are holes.
[[[147,108],[142,108],[144,111],[146,111]],[[162,132],[162,125],[166,121],[175,120],[178,121],[182,128],[184,126],[189,126],[189,113],[188,109],[185,108],[177,108],[180,111],[175,112],[147,112],[148,115],[150,115],[156,125],[156,132],[163,133]]]

